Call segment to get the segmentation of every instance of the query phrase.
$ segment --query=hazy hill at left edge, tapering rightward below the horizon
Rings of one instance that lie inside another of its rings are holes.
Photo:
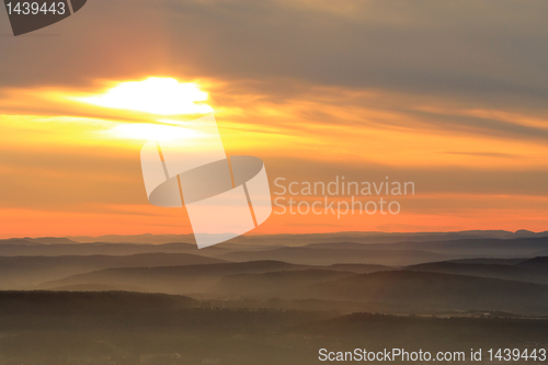
[[[23,289],[46,281],[109,267],[155,267],[226,262],[190,253],[127,256],[0,256],[0,289]]]

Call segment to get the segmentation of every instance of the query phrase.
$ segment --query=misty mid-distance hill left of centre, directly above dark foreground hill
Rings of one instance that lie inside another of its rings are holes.
[[[205,293],[226,275],[301,270],[306,266],[277,261],[216,263],[168,267],[107,269],[68,276],[39,285],[42,289],[71,285],[109,285],[141,287],[146,292],[168,294]]]

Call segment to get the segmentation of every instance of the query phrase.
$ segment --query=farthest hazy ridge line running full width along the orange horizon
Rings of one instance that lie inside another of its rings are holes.
[[[544,233],[499,233],[481,232],[481,235],[486,236],[484,238],[477,238],[478,235],[481,236],[480,233],[471,235],[468,232],[444,235],[367,235],[344,232],[326,235],[249,236],[240,237],[230,242],[224,242],[202,250],[198,250],[196,244],[187,242],[169,242],[161,244],[129,242],[73,243],[67,239],[24,238],[0,241],[0,256],[129,255],[163,252],[192,253],[210,258],[219,256],[220,259],[239,262],[277,260],[311,265],[367,263],[402,266],[457,259],[527,259],[538,255],[538,252],[548,252],[548,237],[543,236]],[[147,239],[152,237],[152,235],[145,236]],[[490,238],[490,236],[506,238]],[[398,239],[410,238],[410,240],[398,240],[397,242],[392,242],[392,238],[396,237]],[[168,236],[165,238],[175,239],[180,237]],[[375,241],[374,238],[383,239]],[[434,240],[434,238],[437,238],[437,240]],[[311,240],[316,240],[316,242],[310,242]],[[361,251],[368,252],[365,253]]]

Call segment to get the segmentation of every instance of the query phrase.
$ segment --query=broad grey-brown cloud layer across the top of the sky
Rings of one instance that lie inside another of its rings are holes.
[[[0,38],[0,79],[286,78],[539,109],[548,95],[547,12],[540,0],[94,0],[39,31],[61,37]],[[1,21],[0,33],[9,32],[4,13]]]

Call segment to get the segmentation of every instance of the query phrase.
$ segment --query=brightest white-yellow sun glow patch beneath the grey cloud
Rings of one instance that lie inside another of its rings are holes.
[[[171,78],[148,78],[144,81],[123,82],[102,95],[78,100],[104,107],[176,115],[213,113],[213,109],[204,103],[207,98],[207,92],[195,83],[182,83]]]

